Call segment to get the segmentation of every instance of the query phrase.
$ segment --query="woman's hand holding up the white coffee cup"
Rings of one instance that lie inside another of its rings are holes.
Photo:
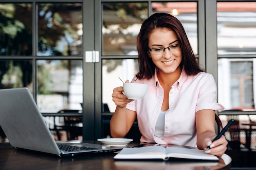
[[[129,83],[129,81],[126,80],[126,83]],[[128,99],[126,95],[124,95],[123,91],[124,91],[124,88],[120,86],[120,87],[114,88],[112,93],[112,100],[119,107],[126,107],[128,103],[133,101],[133,99]]]

